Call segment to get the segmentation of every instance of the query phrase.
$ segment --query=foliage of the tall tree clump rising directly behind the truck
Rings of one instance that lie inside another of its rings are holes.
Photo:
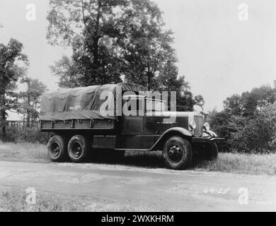
[[[170,30],[164,29],[159,7],[149,0],[50,1],[47,19],[50,44],[69,45],[71,59],[52,66],[59,86],[139,83],[149,90],[173,90],[178,109],[202,107],[184,76],[178,75]]]

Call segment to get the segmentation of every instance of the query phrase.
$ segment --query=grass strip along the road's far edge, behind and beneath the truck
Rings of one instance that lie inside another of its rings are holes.
[[[0,143],[0,160],[22,162],[50,162],[47,146],[33,143]],[[89,160],[88,162],[93,162]],[[135,167],[162,168],[160,152],[144,153],[127,151],[122,160],[112,160],[104,156],[97,163],[131,165]],[[276,154],[245,155],[220,153],[216,161],[197,162],[191,169],[209,172],[231,172],[243,174],[276,174]]]

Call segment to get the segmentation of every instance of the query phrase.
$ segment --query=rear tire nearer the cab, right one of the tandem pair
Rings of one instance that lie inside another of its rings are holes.
[[[91,149],[88,138],[76,135],[68,143],[68,155],[72,162],[84,162]]]

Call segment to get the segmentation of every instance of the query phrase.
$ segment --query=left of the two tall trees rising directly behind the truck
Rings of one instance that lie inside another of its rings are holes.
[[[115,48],[110,48],[113,44],[108,43],[116,42],[125,34],[126,21],[132,13],[130,2],[59,0],[50,1],[50,7],[47,39],[51,44],[72,47],[73,66],[70,69],[79,71],[76,74],[79,83],[75,85],[120,82],[121,75],[116,65],[119,60],[115,57]],[[67,81],[67,72],[59,75],[61,81]]]

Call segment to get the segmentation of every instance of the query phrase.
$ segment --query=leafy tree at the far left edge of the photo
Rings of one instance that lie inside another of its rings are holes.
[[[28,58],[22,53],[23,44],[11,39],[8,44],[0,44],[0,127],[2,140],[6,135],[6,111],[16,108],[16,88],[18,78],[25,73]],[[19,62],[24,66],[19,66]]]

